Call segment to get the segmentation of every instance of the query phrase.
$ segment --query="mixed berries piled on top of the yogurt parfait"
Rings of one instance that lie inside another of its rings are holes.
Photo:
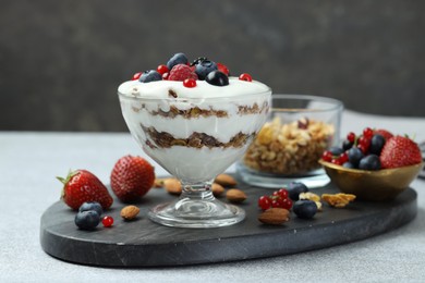
[[[185,87],[196,87],[196,81],[205,81],[215,86],[229,85],[229,69],[222,63],[216,63],[206,57],[199,57],[190,63],[184,53],[175,53],[166,64],[160,64],[156,70],[147,70],[133,75],[132,81],[141,83],[156,81],[180,81]],[[239,79],[252,82],[250,74],[243,73]]]

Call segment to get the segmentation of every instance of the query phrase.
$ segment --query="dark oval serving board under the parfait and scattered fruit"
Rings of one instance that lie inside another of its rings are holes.
[[[158,267],[223,262],[282,256],[331,247],[364,239],[410,222],[417,212],[416,193],[409,188],[390,202],[354,201],[336,209],[324,204],[313,220],[291,220],[281,226],[258,222],[257,199],[271,194],[267,188],[243,185],[247,200],[241,205],[246,219],[232,226],[217,229],[168,227],[147,219],[149,207],[174,197],[153,188],[137,204],[138,219],[124,222],[114,200],[107,214],[116,220],[110,229],[101,224],[95,231],[82,231],[74,224],[75,212],[58,201],[41,217],[42,249],[59,259],[100,267]],[[312,189],[316,194],[339,193],[332,185]],[[220,197],[226,201],[224,197]]]

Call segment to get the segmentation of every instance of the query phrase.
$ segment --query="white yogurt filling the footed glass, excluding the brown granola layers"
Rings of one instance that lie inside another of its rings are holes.
[[[253,137],[267,119],[271,96],[270,88],[259,82],[230,78],[229,85],[221,87],[205,81],[196,83],[196,87],[187,88],[174,81],[131,81],[119,87],[122,113],[133,137],[156,162],[186,182],[207,181],[222,173],[241,158],[251,138],[242,146],[162,148],[145,130],[155,128],[175,139],[189,139],[194,133],[206,134],[222,144],[241,133]],[[177,99],[170,97],[170,89],[178,95]],[[256,111],[241,111],[253,107]],[[173,112],[167,115],[171,108],[198,108],[209,111],[209,115],[184,116]],[[224,111],[226,115],[216,115],[216,111]]]

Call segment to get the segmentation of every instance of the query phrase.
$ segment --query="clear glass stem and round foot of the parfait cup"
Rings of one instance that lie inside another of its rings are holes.
[[[245,218],[245,211],[218,200],[211,192],[211,182],[184,184],[181,196],[149,211],[149,219],[168,226],[219,227],[235,224]]]

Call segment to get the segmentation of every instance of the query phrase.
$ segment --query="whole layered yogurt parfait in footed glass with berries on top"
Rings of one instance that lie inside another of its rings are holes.
[[[271,90],[247,73],[207,58],[174,54],[118,89],[130,132],[183,185],[180,198],[151,209],[171,226],[212,227],[243,220],[241,208],[211,194],[212,180],[242,157],[266,122]]]

